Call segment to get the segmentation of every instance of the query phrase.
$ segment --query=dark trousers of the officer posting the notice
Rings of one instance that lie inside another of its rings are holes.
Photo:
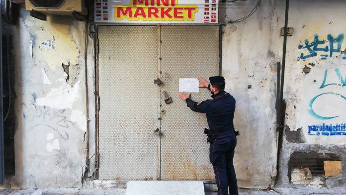
[[[218,195],[238,195],[236,172],[233,166],[236,136],[215,138],[209,147],[209,159],[214,168]]]

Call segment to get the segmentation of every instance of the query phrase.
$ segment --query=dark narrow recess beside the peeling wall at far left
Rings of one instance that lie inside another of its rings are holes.
[[[18,23],[20,4],[14,1],[2,0],[3,6],[2,20],[2,101],[3,101],[3,156],[4,174],[14,175],[14,131],[16,127],[16,116],[14,112],[14,102],[16,99],[14,91],[14,56],[12,55],[13,25]]]

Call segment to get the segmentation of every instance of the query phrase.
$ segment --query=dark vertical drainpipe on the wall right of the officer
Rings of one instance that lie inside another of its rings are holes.
[[[287,45],[287,25],[288,25],[288,8],[289,8],[289,0],[286,0],[286,6],[285,6],[285,29],[284,29],[284,35],[283,35],[283,50],[282,50],[282,68],[281,68],[281,81],[280,81],[280,87],[277,89],[280,93],[280,96],[277,100],[276,104],[276,130],[278,131],[278,144],[277,144],[277,162],[276,162],[276,178],[275,178],[275,184],[278,182],[278,176],[279,176],[279,161],[280,161],[280,155],[282,150],[282,142],[283,142],[283,126],[285,122],[285,112],[286,112],[286,103],[283,100],[283,84],[284,84],[284,78],[285,78],[285,64],[286,64],[286,45]],[[279,66],[278,66],[279,67]],[[279,71],[278,69],[277,71]],[[278,74],[279,75],[279,74]],[[280,79],[280,78],[278,78]]]

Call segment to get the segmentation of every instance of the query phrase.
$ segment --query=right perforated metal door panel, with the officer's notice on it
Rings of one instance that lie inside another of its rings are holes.
[[[162,91],[173,103],[162,102],[161,178],[163,180],[213,180],[209,145],[203,132],[206,115],[192,112],[178,98],[179,78],[208,79],[218,75],[218,26],[162,26]],[[196,101],[210,98],[207,89],[192,94]],[[163,95],[162,95],[163,96]]]

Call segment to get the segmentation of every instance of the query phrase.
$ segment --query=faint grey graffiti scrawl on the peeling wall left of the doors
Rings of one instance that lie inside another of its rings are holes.
[[[22,103],[22,107],[23,117],[26,120],[38,121],[31,129],[44,127],[55,131],[65,140],[69,139],[68,130],[73,122],[67,120],[65,109],[52,109],[46,106],[39,107],[35,105],[27,106],[25,103]]]

